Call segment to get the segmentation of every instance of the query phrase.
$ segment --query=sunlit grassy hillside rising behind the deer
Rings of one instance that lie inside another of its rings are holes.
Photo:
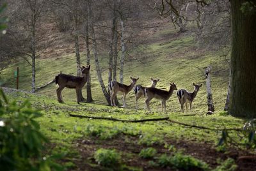
[[[204,86],[200,89],[195,101],[193,102],[193,112],[203,114],[207,110],[206,105],[206,88],[205,79],[201,71],[212,64],[212,93],[216,110],[221,111],[224,107],[225,97],[228,84],[228,66],[219,52],[211,52],[202,50],[196,47],[191,34],[177,34],[177,30],[170,29],[170,26],[165,26],[164,29],[150,36],[150,42],[146,48],[138,48],[143,50],[144,56],[138,56],[143,59],[143,63],[139,61],[127,61],[125,63],[124,83],[129,84],[129,75],[133,77],[140,76],[137,82],[142,85],[150,85],[150,77],[160,78],[161,81],[157,87],[166,89],[168,82],[175,82],[178,89],[185,88],[193,91],[192,83],[202,83]],[[81,55],[81,61],[84,64],[86,57]],[[102,77],[105,85],[108,84],[108,58],[104,55],[100,56],[100,66],[102,67]],[[20,68],[20,89],[29,91],[31,89],[31,67],[26,61],[20,60],[19,63],[10,64],[8,68],[1,71],[1,77],[6,82],[4,86],[15,87],[15,78],[13,78],[14,68]],[[36,59],[36,85],[44,85],[51,81],[58,73],[68,73],[76,75],[76,58],[75,54],[67,56],[58,56],[44,59]],[[92,96],[95,104],[106,105],[104,96],[97,80],[95,64],[92,56]],[[55,84],[51,84],[45,89],[38,92],[56,99]],[[86,90],[83,91],[86,96]],[[121,98],[118,96],[118,98]],[[75,101],[75,91],[64,89],[64,101]],[[120,99],[120,102],[122,100]],[[143,108],[143,99],[140,99],[139,107]],[[131,91],[127,96],[128,108],[135,108],[134,93]],[[159,101],[152,100],[153,111],[159,111]],[[179,103],[175,94],[167,103],[169,112],[178,112],[180,110]]]

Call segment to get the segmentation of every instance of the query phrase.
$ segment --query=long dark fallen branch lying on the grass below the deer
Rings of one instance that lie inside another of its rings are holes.
[[[124,120],[124,119],[116,119],[113,117],[98,117],[98,116],[88,116],[88,115],[73,115],[69,114],[71,117],[79,117],[79,118],[88,118],[88,119],[104,119],[109,121],[119,121],[119,122],[127,122],[127,123],[143,123],[148,121],[164,121],[168,120],[169,117],[160,117],[160,118],[151,118],[151,119],[139,119],[139,120]]]

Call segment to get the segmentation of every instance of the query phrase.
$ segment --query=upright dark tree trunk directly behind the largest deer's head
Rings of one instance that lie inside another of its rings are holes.
[[[90,48],[89,48],[89,29],[88,29],[88,20],[86,22],[86,56],[87,56],[87,62],[86,64],[89,65],[91,61],[90,57]],[[92,90],[91,90],[91,74],[88,76],[87,85],[86,85],[86,92],[87,92],[87,103],[92,103]]]

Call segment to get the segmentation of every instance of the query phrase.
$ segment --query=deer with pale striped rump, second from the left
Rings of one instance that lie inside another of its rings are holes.
[[[132,88],[134,87],[134,85],[136,84],[136,82],[140,79],[140,77],[138,78],[131,78],[131,84],[130,85],[125,85],[125,84],[120,84],[117,81],[111,81],[108,84],[108,89],[110,92],[110,102],[111,102],[111,106],[116,106],[115,104],[115,96],[116,94],[122,94],[123,95],[123,106],[124,108],[126,108],[126,95],[132,90]]]

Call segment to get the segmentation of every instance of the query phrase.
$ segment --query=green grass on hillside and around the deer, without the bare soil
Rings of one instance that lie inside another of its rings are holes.
[[[162,39],[147,45],[147,48],[143,48],[145,50],[143,52],[145,54],[143,56],[143,59],[145,59],[143,64],[138,61],[125,63],[124,83],[129,84],[131,82],[129,75],[133,77],[140,76],[138,84],[142,85],[150,85],[150,77],[160,78],[161,80],[157,83],[157,87],[163,89],[169,88],[168,82],[175,82],[178,89],[185,88],[188,91],[193,91],[193,82],[202,83],[204,85],[198,92],[195,101],[193,101],[192,111],[195,115],[186,116],[180,113],[176,92],[167,101],[167,114],[161,112],[160,101],[157,100],[150,101],[152,114],[143,110],[136,112],[134,110],[135,99],[133,91],[127,95],[127,109],[108,107],[97,80],[94,62],[92,62],[91,70],[93,104],[81,103],[78,105],[74,89],[64,89],[63,100],[65,103],[58,103],[55,84],[49,85],[37,94],[11,92],[8,93],[8,97],[16,101],[29,99],[33,107],[42,109],[43,117],[38,119],[41,130],[51,139],[52,144],[56,144],[50,150],[51,152],[67,153],[65,162],[69,167],[74,167],[72,163],[76,162],[76,160],[81,160],[79,158],[79,149],[76,148],[77,140],[81,139],[90,139],[95,142],[99,140],[111,141],[125,135],[136,138],[134,140],[128,138],[124,142],[131,142],[134,145],[143,147],[158,145],[164,148],[164,144],[168,144],[168,140],[174,139],[188,142],[209,142],[215,145],[218,143],[221,131],[188,128],[168,121],[122,123],[96,119],[79,119],[69,116],[69,114],[77,114],[131,120],[168,116],[174,121],[207,126],[209,128],[241,128],[245,122],[243,119],[223,115],[222,112],[227,94],[228,65],[225,63],[225,59],[221,58],[220,52],[198,50],[195,47],[193,37],[186,34],[177,38],[170,38],[170,40],[168,38],[164,39],[164,36],[172,37],[172,34],[175,34],[173,29],[163,30],[156,34],[156,36],[160,36]],[[82,63],[86,61],[84,54],[81,54],[81,61]],[[206,68],[209,64],[212,64],[213,68],[212,93],[216,109],[214,115],[205,115],[207,112],[205,78],[201,71],[198,70],[198,68]],[[31,67],[24,61],[10,64],[8,68],[1,71],[1,77],[4,78],[5,82],[4,85],[15,87],[13,72],[17,66],[20,68],[20,89],[29,91],[31,89]],[[107,58],[105,56],[100,56],[100,66],[102,66],[104,83],[107,85],[108,70]],[[36,59],[37,87],[51,81],[60,71],[76,75],[76,59],[74,54],[49,59]],[[83,94],[86,97],[85,89],[83,89]],[[121,97],[118,96],[118,98],[120,99]],[[141,109],[144,107],[143,102],[144,100],[141,98],[139,100],[139,107]],[[237,133],[230,131],[229,135],[235,140],[238,139]],[[97,147],[100,148],[101,146],[98,145]],[[93,149],[93,151],[95,152],[96,149]],[[128,153],[126,152],[125,154]],[[138,154],[132,155],[138,156]],[[87,159],[86,162],[90,163],[91,161]],[[95,165],[95,163],[90,163],[91,167],[95,167]]]

